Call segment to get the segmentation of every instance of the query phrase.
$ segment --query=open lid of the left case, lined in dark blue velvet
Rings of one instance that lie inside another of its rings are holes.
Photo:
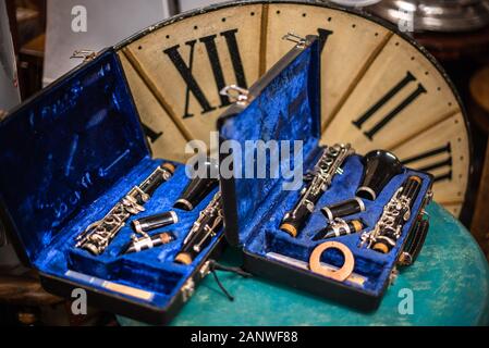
[[[33,264],[149,149],[119,58],[102,52],[0,124],[0,206]]]

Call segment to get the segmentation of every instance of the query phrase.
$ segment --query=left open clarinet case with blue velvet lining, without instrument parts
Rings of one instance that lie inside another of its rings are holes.
[[[173,262],[183,239],[213,194],[163,231],[176,239],[119,256],[133,234],[127,221],[98,257],[75,248],[75,237],[102,219],[163,160],[154,160],[118,54],[101,52],[12,111],[0,124],[1,217],[17,253],[42,287],[87,304],[154,323],[168,323],[220,252],[220,231],[191,265]],[[144,217],[172,209],[190,179],[184,164],[144,206]],[[217,189],[215,189],[217,191]],[[222,228],[221,228],[222,229]]]

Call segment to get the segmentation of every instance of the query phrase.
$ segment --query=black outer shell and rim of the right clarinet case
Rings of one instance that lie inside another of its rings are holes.
[[[310,46],[318,38],[316,36],[308,36],[306,38],[306,47]],[[281,61],[279,61],[260,80],[257,82],[250,89],[248,98],[253,100],[260,91],[268,85],[268,83],[283,69],[288,66],[301,52],[304,47],[298,44],[294,47]],[[319,60],[318,60],[319,62]],[[315,67],[316,72],[320,73],[320,67]],[[318,95],[320,92],[318,91]],[[320,102],[320,100],[318,100]],[[232,105],[219,120],[218,129],[229,117],[234,117],[240,114],[246,105],[234,104]],[[220,138],[222,144],[225,139]],[[221,154],[220,160],[223,161],[227,156]],[[432,175],[428,175],[431,179],[430,187],[428,189],[429,197],[425,198],[424,203],[418,212],[417,219],[420,219],[425,214],[425,207],[431,201],[431,189],[432,189]],[[284,284],[292,288],[305,291],[306,294],[314,294],[325,299],[332,300],[334,302],[365,311],[370,312],[380,306],[384,291],[390,285],[390,282],[386,282],[382,287],[381,296],[372,296],[367,291],[359,288],[347,286],[343,283],[339,283],[327,277],[314,274],[309,271],[305,271],[285,263],[280,263],[274,260],[270,260],[247,250],[244,250],[244,246],[240,240],[240,231],[237,223],[237,201],[240,197],[236,197],[235,192],[235,182],[234,178],[222,179],[221,178],[221,191],[224,199],[224,220],[225,220],[225,238],[228,243],[240,248],[243,252],[243,268],[252,274],[258,275],[262,278],[270,279],[280,284]],[[412,228],[407,233],[409,237],[405,238],[402,246],[402,250],[405,249],[406,245],[412,240],[412,234],[416,227],[413,224]],[[426,234],[425,236],[426,237]],[[419,252],[423,247],[424,237],[420,238],[420,245],[417,246],[417,251]],[[392,270],[395,273],[396,270]]]

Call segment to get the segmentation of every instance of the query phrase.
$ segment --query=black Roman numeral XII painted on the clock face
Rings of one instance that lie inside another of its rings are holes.
[[[220,33],[220,36],[224,38],[230,57],[231,57],[231,63],[234,70],[234,76],[236,84],[240,87],[247,88],[246,77],[244,73],[243,67],[243,61],[240,54],[240,49],[237,47],[237,40],[236,40],[236,33],[237,29],[227,30],[223,33]],[[208,113],[217,108],[224,108],[228,107],[231,102],[228,97],[220,96],[220,102],[221,104],[219,107],[211,105],[209,102],[209,99],[207,98],[206,94],[203,91],[203,88],[196,80],[194,74],[193,74],[193,67],[194,67],[194,57],[195,57],[195,47],[197,45],[197,41],[203,44],[207,57],[209,59],[209,63],[211,66],[213,79],[216,82],[216,87],[219,91],[227,86],[227,83],[224,80],[224,73],[222,70],[221,60],[219,58],[218,52],[218,46],[216,44],[216,40],[218,38],[218,35],[210,35],[206,37],[201,37],[198,40],[190,40],[185,42],[186,46],[190,48],[190,57],[188,57],[188,64],[185,63],[184,59],[182,58],[180,53],[180,45],[170,47],[169,49],[166,49],[163,52],[170,58],[175,69],[179,71],[180,75],[182,76],[183,80],[186,85],[186,96],[185,96],[185,105],[184,105],[184,115],[183,119],[193,117],[194,115],[190,113],[190,101],[191,101],[191,94],[195,97],[197,102],[201,107],[201,113]]]

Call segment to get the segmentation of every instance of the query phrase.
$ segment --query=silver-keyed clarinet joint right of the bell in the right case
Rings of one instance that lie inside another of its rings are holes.
[[[362,235],[360,246],[381,253],[389,253],[395,247],[403,226],[411,219],[411,210],[419,195],[421,184],[423,179],[419,176],[409,176],[403,183],[383,208],[375,228]]]

